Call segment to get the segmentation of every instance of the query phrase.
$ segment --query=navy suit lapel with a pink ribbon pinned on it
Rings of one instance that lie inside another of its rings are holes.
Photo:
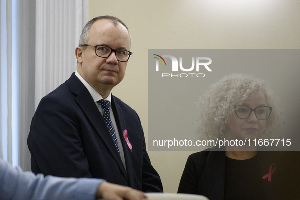
[[[124,136],[123,136],[123,131],[127,130],[127,128],[126,128],[125,118],[124,118],[122,109],[120,108],[120,106],[118,104],[115,103],[115,99],[114,99],[113,95],[112,95],[112,108],[113,108],[115,120],[117,122],[122,146],[123,146],[126,170],[127,170],[128,180],[129,180],[129,186],[131,186],[131,185],[133,185],[133,182],[134,182],[134,180],[133,180],[134,172],[133,172],[133,166],[132,166],[131,150],[129,149],[129,147],[124,139]],[[130,141],[130,132],[128,132],[127,137]]]

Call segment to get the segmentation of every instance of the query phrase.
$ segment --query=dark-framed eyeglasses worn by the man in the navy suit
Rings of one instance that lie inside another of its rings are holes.
[[[120,62],[127,62],[130,58],[130,55],[132,55],[133,53],[127,50],[123,50],[123,49],[112,49],[108,46],[105,45],[80,45],[81,47],[83,46],[93,46],[95,47],[96,50],[96,55],[102,58],[108,58],[112,52],[115,52],[116,58],[118,61]]]

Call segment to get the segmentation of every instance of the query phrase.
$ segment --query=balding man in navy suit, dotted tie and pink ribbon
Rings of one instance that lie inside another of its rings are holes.
[[[111,94],[124,78],[130,44],[118,18],[101,16],[85,25],[75,49],[77,71],[42,98],[32,119],[27,144],[34,173],[162,192],[137,113]]]

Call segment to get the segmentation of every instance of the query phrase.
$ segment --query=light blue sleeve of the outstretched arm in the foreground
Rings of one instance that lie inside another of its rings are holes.
[[[95,199],[103,179],[35,175],[0,159],[0,199]]]

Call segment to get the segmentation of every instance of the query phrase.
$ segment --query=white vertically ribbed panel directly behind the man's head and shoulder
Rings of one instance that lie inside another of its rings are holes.
[[[35,106],[76,70],[75,47],[88,20],[88,1],[37,1]]]

